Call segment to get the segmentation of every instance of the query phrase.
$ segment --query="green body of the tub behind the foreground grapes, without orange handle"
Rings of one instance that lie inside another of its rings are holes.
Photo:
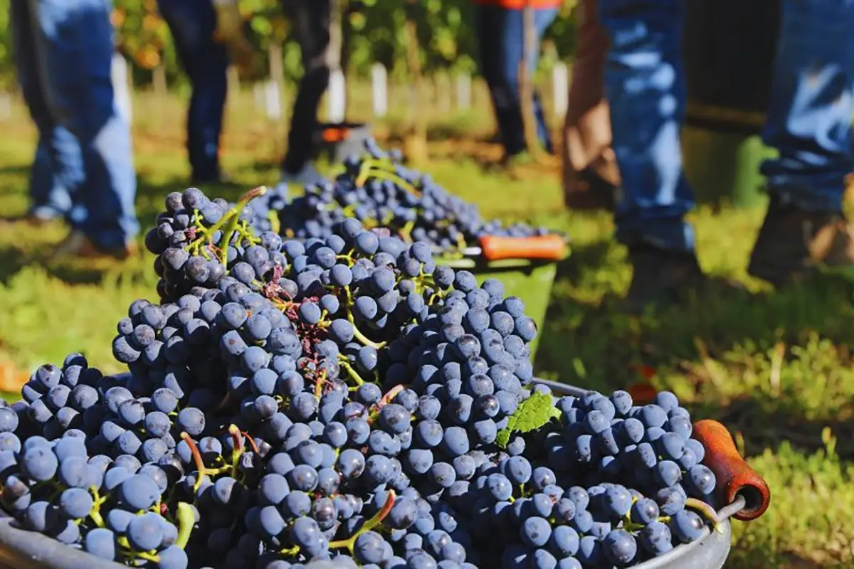
[[[536,322],[537,330],[542,331],[546,322],[546,310],[552,297],[554,276],[558,270],[555,262],[535,262],[528,259],[507,259],[484,262],[472,258],[441,259],[439,264],[447,264],[453,269],[471,270],[482,283],[488,278],[496,278],[504,283],[505,296],[518,296],[525,303],[525,314]],[[531,342],[531,360],[540,344],[540,335]]]

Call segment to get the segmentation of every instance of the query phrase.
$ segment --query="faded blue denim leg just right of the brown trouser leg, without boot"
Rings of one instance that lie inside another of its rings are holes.
[[[623,178],[617,237],[692,250],[693,229],[684,216],[693,195],[682,172],[679,142],[686,97],[682,8],[682,0],[600,0],[611,40],[605,92]]]

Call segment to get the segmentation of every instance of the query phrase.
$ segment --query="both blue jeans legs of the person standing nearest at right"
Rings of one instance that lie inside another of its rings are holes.
[[[605,92],[623,179],[617,237],[692,250],[684,216],[693,195],[682,172],[685,117],[683,0],[600,0],[611,39]],[[769,191],[811,211],[839,212],[854,168],[854,0],[783,0],[763,141],[779,152],[762,172]]]

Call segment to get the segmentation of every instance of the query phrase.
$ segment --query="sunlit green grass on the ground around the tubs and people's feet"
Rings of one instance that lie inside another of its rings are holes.
[[[152,223],[168,191],[184,187],[179,115],[171,102],[137,104],[143,225]],[[225,164],[238,185],[215,191],[234,197],[276,180],[281,130],[239,108],[229,120]],[[477,139],[488,134],[483,114],[434,126],[465,135],[431,143],[428,169],[440,183],[477,202],[484,215],[531,218],[572,237],[573,255],[559,266],[541,331],[537,373],[612,390],[638,380],[643,366],[654,370],[655,386],[675,391],[696,417],[730,427],[774,499],[762,519],[735,524],[728,567],[854,566],[851,287],[822,281],[769,291],[745,273],[762,212],[701,208],[693,214],[701,264],[744,282],[749,292],[699,298],[640,319],[623,316],[615,301],[630,273],[623,248],[611,241],[610,219],[565,212],[556,165],[521,177],[485,170],[496,151]],[[34,133],[22,109],[0,128],[0,212],[23,212]],[[394,135],[394,121],[383,128]],[[123,265],[50,260],[63,231],[0,226],[0,379],[3,369],[32,369],[75,350],[118,369],[110,354],[115,322],[132,299],[154,296],[149,255]]]

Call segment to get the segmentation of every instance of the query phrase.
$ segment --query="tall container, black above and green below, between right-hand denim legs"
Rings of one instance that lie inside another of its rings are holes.
[[[759,165],[772,155],[758,133],[771,95],[781,0],[685,3],[685,173],[700,203],[764,200]]]

